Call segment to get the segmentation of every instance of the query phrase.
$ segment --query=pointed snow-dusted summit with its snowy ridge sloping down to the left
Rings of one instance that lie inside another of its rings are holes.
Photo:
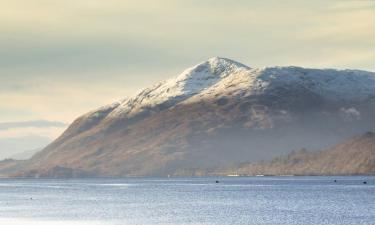
[[[223,78],[250,68],[230,59],[213,57],[184,70],[180,75],[146,88],[126,99],[110,116],[132,116],[155,105],[171,106],[197,94]]]

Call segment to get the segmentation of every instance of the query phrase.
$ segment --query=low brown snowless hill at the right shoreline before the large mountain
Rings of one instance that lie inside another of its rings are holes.
[[[375,175],[375,133],[367,132],[324,151],[302,149],[269,162],[219,170],[217,174]]]

